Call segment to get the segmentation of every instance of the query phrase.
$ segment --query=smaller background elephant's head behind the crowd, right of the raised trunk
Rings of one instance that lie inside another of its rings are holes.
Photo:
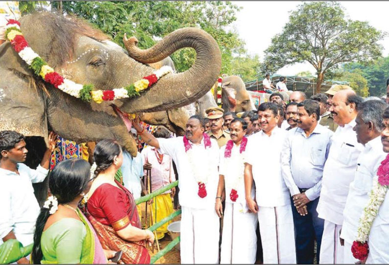
[[[255,110],[250,94],[247,92],[242,78],[236,75],[222,79],[222,108],[224,111],[242,112]]]

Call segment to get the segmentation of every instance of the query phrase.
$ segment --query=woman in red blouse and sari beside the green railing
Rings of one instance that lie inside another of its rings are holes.
[[[132,194],[115,180],[123,162],[121,146],[114,140],[102,140],[96,145],[94,159],[97,177],[85,199],[85,215],[104,248],[123,251],[123,263],[150,263],[146,242],[153,243],[154,235],[142,230]]]

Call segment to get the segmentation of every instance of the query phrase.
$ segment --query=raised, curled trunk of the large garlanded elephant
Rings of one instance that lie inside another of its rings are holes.
[[[142,97],[126,100],[123,107],[127,110],[150,112],[188,105],[203,96],[219,76],[219,45],[201,29],[178,29],[146,50],[136,46],[135,37],[124,38],[124,44],[130,57],[145,64],[159,62],[180,48],[192,47],[196,51],[196,61],[190,69],[166,75],[147,89]]]

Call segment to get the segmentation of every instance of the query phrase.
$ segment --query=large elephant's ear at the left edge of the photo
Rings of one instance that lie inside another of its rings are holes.
[[[46,94],[9,42],[0,46],[0,128],[47,142]]]

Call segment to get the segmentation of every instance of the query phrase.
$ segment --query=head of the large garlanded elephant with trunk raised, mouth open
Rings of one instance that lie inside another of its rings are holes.
[[[76,142],[114,138],[135,156],[135,141],[112,104],[127,113],[180,108],[209,90],[221,66],[218,44],[198,28],[176,30],[146,50],[137,48],[136,39],[130,38],[126,53],[101,31],[73,17],[39,12],[20,22],[25,39],[49,66],[65,78],[93,84],[95,89],[133,84],[153,72],[146,64],[161,61],[177,49],[192,47],[197,53],[189,70],[162,77],[141,96],[97,104],[45,83],[6,42],[0,46],[0,128],[26,136],[47,139],[48,130],[53,130]]]

